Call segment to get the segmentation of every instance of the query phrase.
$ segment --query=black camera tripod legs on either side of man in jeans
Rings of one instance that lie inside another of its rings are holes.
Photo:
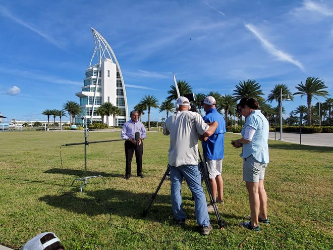
[[[201,179],[204,180],[205,184],[206,184],[206,187],[207,187],[207,191],[208,191],[208,194],[209,194],[209,198],[210,198],[210,202],[211,204],[213,205],[213,208],[214,208],[214,212],[215,212],[215,215],[216,215],[216,219],[217,219],[217,223],[218,223],[218,226],[219,228],[224,228],[225,226],[225,221],[223,219],[221,219],[221,216],[219,214],[219,211],[218,211],[218,208],[217,208],[217,204],[216,204],[216,200],[215,198],[213,197],[213,194],[212,194],[212,190],[211,190],[211,186],[209,184],[209,175],[208,175],[208,169],[207,169],[207,165],[206,165],[206,161],[205,159],[202,159],[201,157],[201,154],[200,154],[200,151],[199,151],[199,158],[200,158],[200,163],[199,163],[199,167],[200,167],[200,173],[201,173]],[[147,214],[148,214],[148,210],[150,209],[151,205],[153,204],[154,202],[154,199],[157,195],[157,192],[159,190],[159,188],[161,187],[163,181],[165,180],[165,178],[170,175],[170,167],[168,165],[167,167],[167,170],[165,171],[161,181],[159,182],[158,184],[158,187],[156,188],[156,191],[152,194],[151,196],[151,201],[147,207],[147,209],[145,209],[143,211],[143,217],[146,217]]]

